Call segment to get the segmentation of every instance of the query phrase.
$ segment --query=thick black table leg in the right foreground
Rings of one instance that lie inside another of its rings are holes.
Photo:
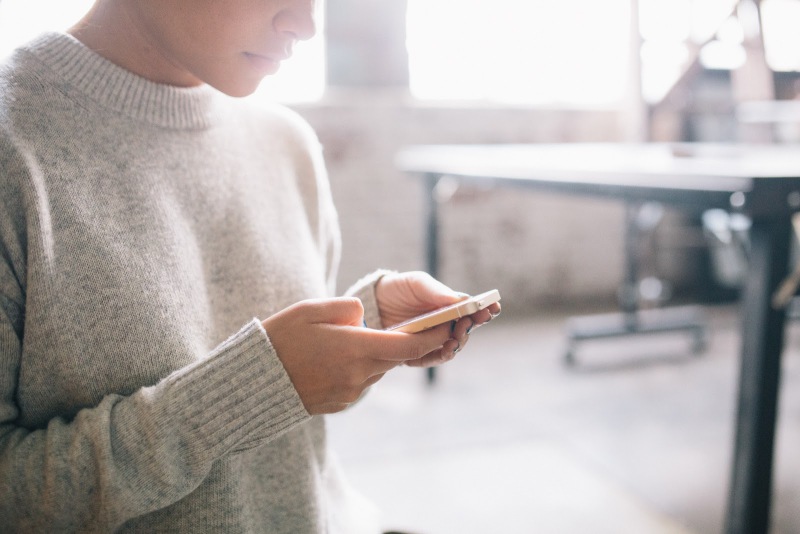
[[[766,534],[786,313],[771,297],[788,273],[789,218],[754,220],[742,301],[742,349],[727,534]]]

